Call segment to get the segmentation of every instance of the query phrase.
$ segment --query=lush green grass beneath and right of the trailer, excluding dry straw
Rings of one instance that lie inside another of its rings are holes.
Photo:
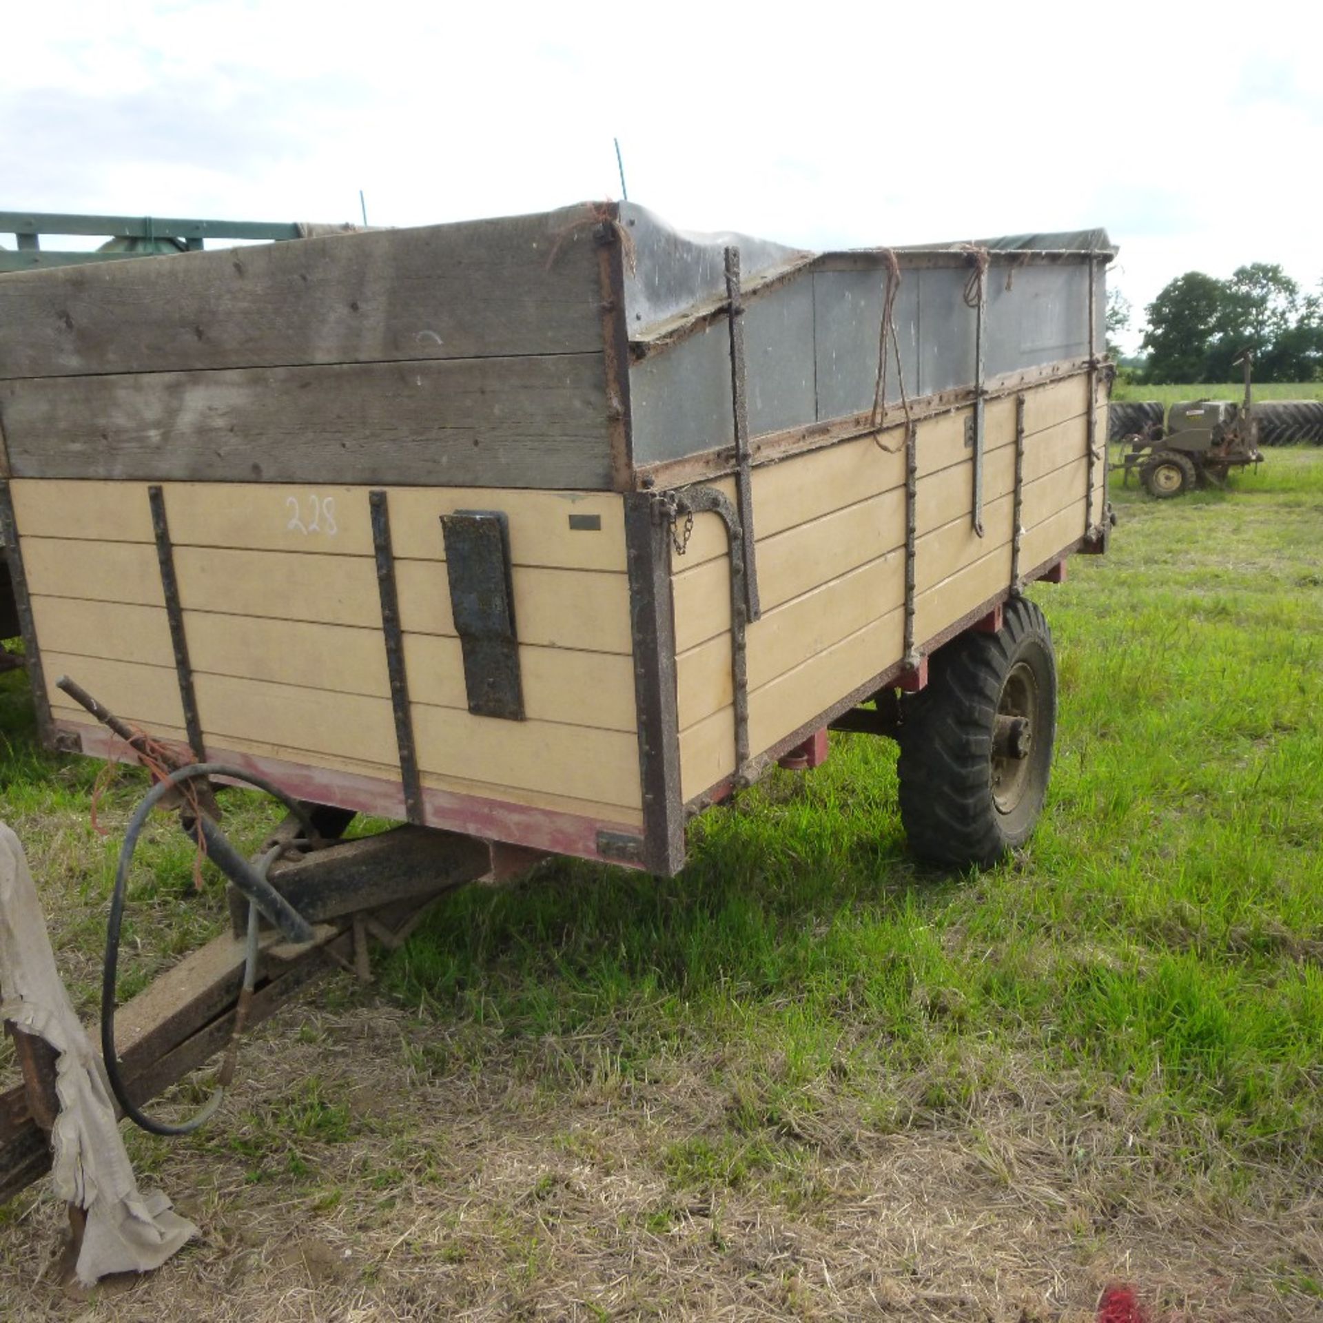
[[[472,1031],[475,1069],[486,1035],[540,1061],[605,1040],[626,1077],[724,1058],[737,1101],[667,1152],[680,1183],[746,1179],[753,1139],[811,1135],[824,1093],[925,1125],[1027,1062],[1080,1107],[1119,1098],[1164,1160],[1318,1162],[1323,452],[1114,500],[1113,556],[1035,590],[1061,725],[1024,855],[916,871],[892,747],[833,737],[819,771],[701,819],[680,877],[565,863],[456,894],[389,986]]]

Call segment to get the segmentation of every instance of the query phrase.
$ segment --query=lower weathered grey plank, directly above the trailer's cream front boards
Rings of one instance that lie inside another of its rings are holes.
[[[46,377],[0,382],[0,411],[19,478],[610,488],[603,373],[587,353]]]

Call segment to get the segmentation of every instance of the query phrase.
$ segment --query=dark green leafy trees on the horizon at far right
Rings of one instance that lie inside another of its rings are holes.
[[[1252,262],[1226,280],[1187,271],[1146,311],[1143,381],[1232,381],[1244,349],[1254,353],[1257,381],[1323,377],[1323,286],[1302,291],[1275,263]],[[1110,331],[1129,321],[1123,300],[1107,314]]]

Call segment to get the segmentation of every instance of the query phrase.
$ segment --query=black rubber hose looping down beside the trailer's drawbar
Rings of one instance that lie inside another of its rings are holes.
[[[151,790],[147,791],[142,803],[135,810],[134,816],[128,820],[128,828],[124,832],[124,843],[119,847],[119,863],[115,867],[115,889],[110,897],[110,917],[106,921],[106,960],[102,967],[101,979],[101,1053],[106,1064],[106,1080],[110,1084],[110,1091],[115,1095],[115,1101],[119,1103],[124,1115],[128,1117],[135,1126],[142,1130],[147,1130],[153,1135],[192,1134],[214,1114],[221,1101],[221,1090],[217,1090],[202,1105],[202,1109],[188,1121],[177,1125],[172,1125],[168,1121],[157,1121],[155,1117],[147,1115],[147,1113],[144,1113],[128,1095],[128,1086],[124,1084],[124,1077],[120,1074],[119,1056],[115,1052],[115,983],[119,974],[119,934],[124,922],[124,893],[128,888],[128,869],[134,861],[134,852],[138,849],[138,839],[142,836],[143,827],[147,824],[147,818],[156,804],[159,804],[172,790],[188,781],[196,781],[200,777],[225,777],[228,781],[238,781],[243,785],[253,786],[257,790],[265,790],[269,795],[284,804],[284,807],[288,808],[300,823],[303,823],[310,836],[315,835],[307,811],[300,803],[298,803],[298,800],[291,799],[283,790],[280,790],[279,786],[273,785],[265,777],[243,771],[239,767],[232,767],[224,762],[194,762],[189,763],[187,767],[180,767],[179,771],[172,771],[164,781],[159,781]],[[208,820],[204,819],[204,824]],[[204,837],[210,837],[210,833],[205,831],[205,826]],[[226,845],[229,845],[228,841]],[[253,875],[253,878],[261,884],[261,888],[265,888],[275,896],[282,905],[288,906],[284,897],[279,896],[275,888],[273,888],[266,880],[266,869],[274,860],[275,853],[275,851],[267,853],[266,859],[262,861],[261,872],[254,871],[251,865],[246,865],[246,868]],[[250,897],[250,900],[253,900],[259,909],[265,910],[265,906],[255,897]],[[307,919],[304,919],[302,914],[292,909],[291,913],[299,923],[307,925]],[[251,955],[251,943],[249,951]],[[253,968],[246,968],[245,982],[247,982],[253,974]]]

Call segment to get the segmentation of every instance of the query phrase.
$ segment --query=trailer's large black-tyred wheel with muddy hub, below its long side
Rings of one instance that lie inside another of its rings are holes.
[[[962,634],[902,699],[901,822],[942,868],[995,864],[1033,832],[1057,732],[1057,663],[1043,613],[1012,598],[996,634]]]

